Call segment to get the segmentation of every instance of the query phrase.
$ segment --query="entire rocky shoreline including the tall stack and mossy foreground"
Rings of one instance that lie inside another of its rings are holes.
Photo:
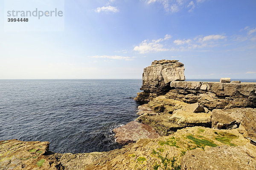
[[[185,81],[184,69],[176,60],[144,69],[140,116],[113,130],[121,149],[61,154],[49,142],[0,141],[0,169],[256,170],[256,83]]]

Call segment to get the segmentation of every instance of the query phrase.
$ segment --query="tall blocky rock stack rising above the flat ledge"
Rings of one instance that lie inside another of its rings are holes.
[[[136,101],[148,102],[150,99],[165,95],[170,90],[171,81],[185,81],[184,64],[178,60],[153,61],[144,69],[143,85]]]

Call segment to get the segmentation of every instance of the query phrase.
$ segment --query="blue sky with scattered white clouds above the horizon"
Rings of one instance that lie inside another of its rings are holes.
[[[6,32],[0,4],[0,79],[135,79],[162,59],[256,78],[255,0],[65,0],[59,32]]]

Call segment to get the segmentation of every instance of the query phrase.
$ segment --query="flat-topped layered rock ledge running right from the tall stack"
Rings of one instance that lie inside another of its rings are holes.
[[[198,102],[208,109],[256,107],[256,83],[172,81],[170,87],[171,90],[166,93],[166,98],[190,104]]]

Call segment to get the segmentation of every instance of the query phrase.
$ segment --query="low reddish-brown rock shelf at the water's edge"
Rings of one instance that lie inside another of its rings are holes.
[[[145,124],[140,124],[137,121],[131,121],[130,123],[113,129],[116,133],[116,142],[119,144],[127,144],[130,142],[135,142],[140,138],[158,138],[160,135],[156,131]]]

